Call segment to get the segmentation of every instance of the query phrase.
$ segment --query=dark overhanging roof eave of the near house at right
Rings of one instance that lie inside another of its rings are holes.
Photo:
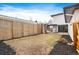
[[[65,22],[69,23],[71,21],[72,15],[74,14],[74,11],[77,9],[79,9],[79,4],[64,7]],[[70,14],[71,16],[68,16],[68,14]]]

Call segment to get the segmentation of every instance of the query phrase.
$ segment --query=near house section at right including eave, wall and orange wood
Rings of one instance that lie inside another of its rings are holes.
[[[65,21],[68,24],[68,33],[79,53],[79,4],[64,8]]]

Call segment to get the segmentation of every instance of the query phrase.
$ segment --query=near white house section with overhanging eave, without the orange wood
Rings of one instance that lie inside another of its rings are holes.
[[[73,23],[79,21],[79,4],[64,8],[65,22],[68,23],[68,33],[73,38]]]

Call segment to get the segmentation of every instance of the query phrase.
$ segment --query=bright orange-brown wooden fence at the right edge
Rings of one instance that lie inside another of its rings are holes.
[[[73,39],[75,49],[79,53],[79,22],[73,23]]]

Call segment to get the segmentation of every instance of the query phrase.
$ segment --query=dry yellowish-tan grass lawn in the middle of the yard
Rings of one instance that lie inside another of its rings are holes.
[[[49,54],[52,45],[60,39],[60,35],[57,34],[40,34],[36,36],[24,37],[9,41],[4,41],[7,45],[12,47],[17,55],[38,55]]]

